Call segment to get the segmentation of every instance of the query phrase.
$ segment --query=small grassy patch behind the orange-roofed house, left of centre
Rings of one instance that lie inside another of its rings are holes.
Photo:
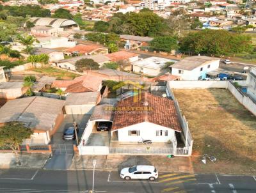
[[[78,74],[68,72],[65,70],[60,70],[52,67],[42,67],[42,68],[34,68],[34,72],[42,73],[44,75],[48,75],[51,77],[57,77],[58,80],[72,80],[76,77],[79,77]]]

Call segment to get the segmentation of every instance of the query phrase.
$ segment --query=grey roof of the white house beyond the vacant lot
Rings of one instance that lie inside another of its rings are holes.
[[[218,58],[208,57],[208,56],[191,56],[184,58],[177,63],[171,65],[172,68],[182,69],[182,70],[193,70],[198,66],[204,65],[207,61],[220,60]]]

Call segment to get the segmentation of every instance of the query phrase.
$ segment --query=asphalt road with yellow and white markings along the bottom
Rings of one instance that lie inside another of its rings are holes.
[[[36,169],[0,170],[0,192],[87,192],[92,189],[92,171]],[[157,181],[124,181],[117,172],[95,171],[96,192],[256,192],[255,176],[162,173]]]

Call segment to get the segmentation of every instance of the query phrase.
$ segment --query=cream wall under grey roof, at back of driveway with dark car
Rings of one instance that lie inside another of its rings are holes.
[[[65,105],[67,114],[92,114],[95,104],[88,105]]]

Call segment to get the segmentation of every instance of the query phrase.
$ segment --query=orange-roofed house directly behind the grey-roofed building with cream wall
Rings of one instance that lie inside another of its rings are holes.
[[[83,93],[100,91],[102,88],[102,78],[83,75],[76,77],[72,81],[54,81],[52,87],[60,88],[66,93]]]

